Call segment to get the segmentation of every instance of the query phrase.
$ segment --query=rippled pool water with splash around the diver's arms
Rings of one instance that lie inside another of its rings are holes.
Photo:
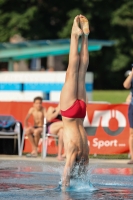
[[[0,200],[133,200],[131,168],[91,165],[86,180],[72,180],[62,192],[62,163],[0,162]]]

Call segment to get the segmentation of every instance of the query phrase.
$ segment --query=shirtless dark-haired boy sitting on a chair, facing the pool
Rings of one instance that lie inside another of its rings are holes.
[[[43,131],[45,113],[46,110],[42,106],[42,98],[35,97],[33,107],[29,109],[24,122],[25,134],[28,136],[28,139],[32,145],[32,152],[30,154],[27,154],[28,157],[37,157],[38,155],[38,143],[41,133]],[[31,115],[34,119],[33,127],[28,126],[28,119]]]

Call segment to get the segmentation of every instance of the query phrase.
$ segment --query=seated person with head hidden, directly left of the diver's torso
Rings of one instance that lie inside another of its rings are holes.
[[[60,107],[59,105],[54,108],[50,106],[46,113],[47,119],[47,129],[49,133],[58,135],[58,156],[57,159],[62,161],[64,160],[65,154],[62,155],[63,149],[63,122],[62,117],[60,115]]]

